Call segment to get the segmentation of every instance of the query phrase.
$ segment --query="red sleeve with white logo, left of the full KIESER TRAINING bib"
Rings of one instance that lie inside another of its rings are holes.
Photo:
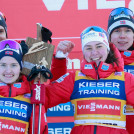
[[[66,73],[58,80],[46,85],[46,108],[70,101],[74,88],[75,72]]]

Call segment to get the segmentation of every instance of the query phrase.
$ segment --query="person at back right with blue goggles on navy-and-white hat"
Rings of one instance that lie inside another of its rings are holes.
[[[109,40],[120,51],[124,59],[124,71],[134,75],[134,14],[133,11],[119,7],[111,11],[108,20]],[[129,134],[134,133],[134,105],[127,105],[126,127]]]

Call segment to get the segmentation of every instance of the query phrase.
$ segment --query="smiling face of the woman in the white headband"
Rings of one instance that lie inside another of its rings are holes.
[[[99,41],[92,41],[85,45],[83,55],[87,62],[94,61],[98,65],[100,61],[106,61],[108,50],[103,43]]]

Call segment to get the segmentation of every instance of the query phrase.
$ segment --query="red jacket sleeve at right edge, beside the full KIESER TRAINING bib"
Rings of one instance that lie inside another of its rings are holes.
[[[134,105],[134,75],[125,72],[125,91],[127,103]]]

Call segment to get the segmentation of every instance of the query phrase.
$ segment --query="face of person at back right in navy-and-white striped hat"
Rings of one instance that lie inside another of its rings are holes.
[[[120,27],[111,34],[111,42],[120,50],[128,50],[133,45],[134,33],[130,28]]]

